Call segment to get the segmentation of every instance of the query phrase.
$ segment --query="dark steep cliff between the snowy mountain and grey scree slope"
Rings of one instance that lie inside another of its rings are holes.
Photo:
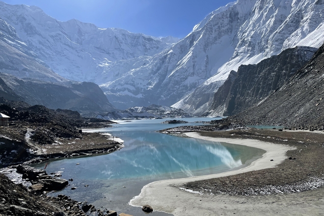
[[[296,47],[256,65],[241,65],[236,78],[229,77],[215,93],[207,114],[234,115],[260,103],[288,81],[315,52],[315,48]]]

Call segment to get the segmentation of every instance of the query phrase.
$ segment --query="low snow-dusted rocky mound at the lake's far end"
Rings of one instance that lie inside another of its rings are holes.
[[[109,112],[97,115],[97,118],[117,119],[152,119],[152,118],[188,118],[193,117],[189,112],[182,109],[151,105],[148,107],[132,107],[125,110]]]

